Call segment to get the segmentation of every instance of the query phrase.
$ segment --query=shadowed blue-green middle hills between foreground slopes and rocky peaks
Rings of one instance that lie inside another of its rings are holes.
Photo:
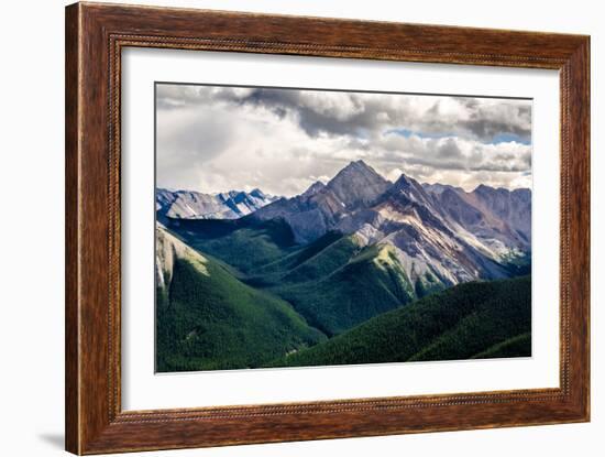
[[[433,292],[413,284],[391,247],[363,247],[356,236],[328,232],[300,247],[279,222],[245,218],[173,229],[199,252],[233,266],[241,281],[289,302],[328,336]]]

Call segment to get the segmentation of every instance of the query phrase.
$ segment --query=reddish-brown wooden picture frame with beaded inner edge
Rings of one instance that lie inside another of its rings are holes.
[[[560,388],[122,411],[120,68],[125,47],[560,72]],[[76,3],[66,9],[66,448],[75,454],[590,420],[590,37]]]

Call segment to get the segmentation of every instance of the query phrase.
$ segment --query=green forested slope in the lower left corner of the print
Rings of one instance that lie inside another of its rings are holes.
[[[288,303],[211,259],[178,258],[157,297],[158,371],[253,368],[324,339]]]

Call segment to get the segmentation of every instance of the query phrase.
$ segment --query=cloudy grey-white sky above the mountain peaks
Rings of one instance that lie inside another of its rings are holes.
[[[531,101],[156,86],[157,186],[292,196],[362,159],[388,179],[531,186]]]

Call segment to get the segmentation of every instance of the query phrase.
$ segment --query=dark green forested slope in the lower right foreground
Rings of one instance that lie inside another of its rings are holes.
[[[531,355],[531,278],[474,282],[376,316],[275,367]]]

